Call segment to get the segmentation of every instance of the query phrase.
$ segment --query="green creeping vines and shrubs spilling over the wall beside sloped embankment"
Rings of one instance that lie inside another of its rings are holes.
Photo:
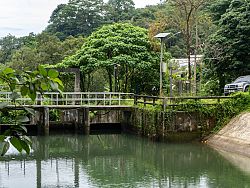
[[[159,137],[163,134],[163,126],[165,127],[165,132],[175,132],[176,128],[171,127],[175,121],[175,115],[176,113],[184,112],[196,117],[201,136],[205,137],[211,134],[211,132],[220,130],[236,115],[244,111],[250,111],[250,93],[236,93],[232,98],[224,99],[220,102],[217,99],[216,101],[189,99],[185,102],[175,102],[177,105],[168,106],[165,113],[162,110],[162,105],[159,103],[155,106],[138,104],[139,110],[137,113],[139,114],[137,116],[147,117],[141,117],[142,122],[135,122],[135,125],[138,125],[137,128],[142,131],[141,134]],[[207,121],[214,124],[214,127],[209,127]]]

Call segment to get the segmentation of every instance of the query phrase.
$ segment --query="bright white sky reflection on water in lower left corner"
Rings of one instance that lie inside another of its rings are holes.
[[[0,188],[37,187],[36,165],[35,160],[0,162]],[[85,170],[81,168],[79,182],[75,182],[73,159],[51,159],[41,162],[41,187],[94,187],[89,179]]]

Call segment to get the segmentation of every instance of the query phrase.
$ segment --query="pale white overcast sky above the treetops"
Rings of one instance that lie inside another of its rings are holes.
[[[104,0],[105,1],[105,0]],[[68,0],[0,0],[0,37],[12,34],[40,33],[48,24],[52,11]],[[145,7],[160,0],[134,0],[135,6]]]

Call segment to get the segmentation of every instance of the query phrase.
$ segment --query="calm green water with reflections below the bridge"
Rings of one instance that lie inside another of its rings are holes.
[[[33,153],[0,158],[0,188],[250,187],[250,159],[201,144],[128,135],[33,137]]]

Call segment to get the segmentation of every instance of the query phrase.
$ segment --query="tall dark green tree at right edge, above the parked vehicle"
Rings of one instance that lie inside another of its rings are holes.
[[[206,48],[206,76],[225,82],[250,74],[250,2],[233,0],[218,22]],[[222,91],[222,90],[221,90]]]

